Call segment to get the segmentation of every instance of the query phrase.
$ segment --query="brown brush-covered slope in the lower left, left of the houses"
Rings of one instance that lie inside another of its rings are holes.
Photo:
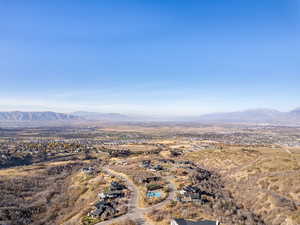
[[[0,171],[0,221],[11,225],[78,224],[106,182],[87,177],[85,162],[55,162]]]

